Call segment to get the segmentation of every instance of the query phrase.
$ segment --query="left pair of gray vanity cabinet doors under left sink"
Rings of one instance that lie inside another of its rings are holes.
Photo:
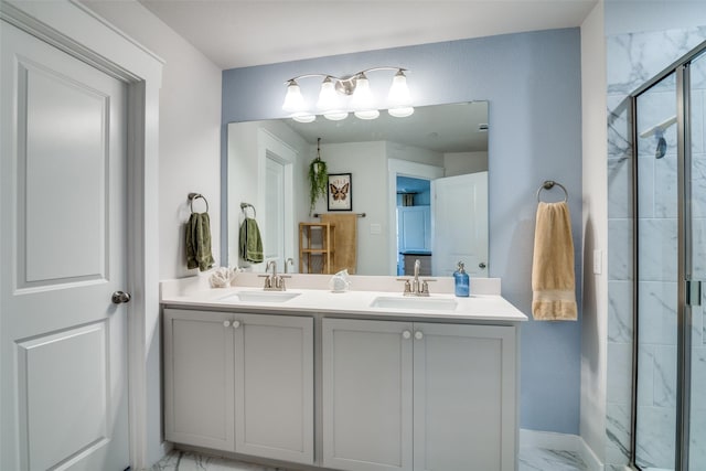
[[[313,319],[164,309],[164,436],[313,463]]]

